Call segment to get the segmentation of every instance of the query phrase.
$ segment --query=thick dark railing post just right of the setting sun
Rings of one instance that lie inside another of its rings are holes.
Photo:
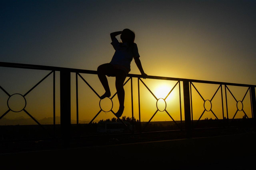
[[[183,81],[183,95],[184,95],[185,129],[187,133],[187,138],[190,138],[191,137],[191,110],[190,110],[189,81]]]

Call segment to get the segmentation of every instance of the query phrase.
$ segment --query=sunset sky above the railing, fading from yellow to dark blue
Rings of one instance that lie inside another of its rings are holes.
[[[8,0],[0,13],[2,62],[96,70],[129,28],[148,75],[256,84],[253,0]]]

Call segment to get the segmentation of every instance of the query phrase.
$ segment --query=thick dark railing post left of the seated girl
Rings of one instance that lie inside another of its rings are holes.
[[[71,127],[70,72],[60,71],[60,127],[63,146],[69,146]]]

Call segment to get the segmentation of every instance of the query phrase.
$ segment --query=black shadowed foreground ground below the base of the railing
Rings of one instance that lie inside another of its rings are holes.
[[[1,167],[256,169],[256,133],[243,128],[1,142]],[[66,169],[66,168],[65,168]]]

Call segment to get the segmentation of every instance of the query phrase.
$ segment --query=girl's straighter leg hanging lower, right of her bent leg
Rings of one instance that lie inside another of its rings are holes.
[[[124,111],[124,81],[126,78],[126,73],[122,70],[120,70],[118,73],[116,73],[116,91],[117,91],[117,97],[119,101],[119,110],[115,114],[118,118],[120,118]]]

